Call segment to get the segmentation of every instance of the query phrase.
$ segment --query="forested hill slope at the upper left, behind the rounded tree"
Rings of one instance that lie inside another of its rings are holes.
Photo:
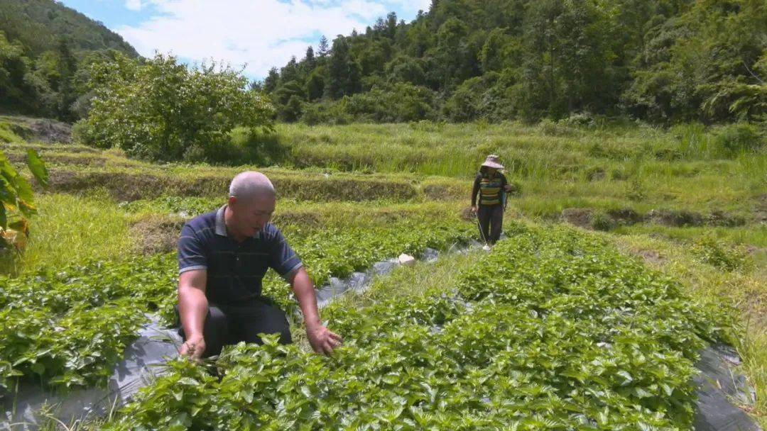
[[[79,118],[83,66],[109,50],[138,57],[120,35],[53,0],[0,0],[0,110]]]

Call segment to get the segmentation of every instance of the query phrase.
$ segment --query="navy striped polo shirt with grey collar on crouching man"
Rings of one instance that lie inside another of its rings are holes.
[[[206,269],[208,301],[232,305],[261,295],[267,269],[291,279],[301,268],[301,260],[271,223],[242,243],[229,237],[225,209],[226,205],[184,224],[179,237],[179,273]]]

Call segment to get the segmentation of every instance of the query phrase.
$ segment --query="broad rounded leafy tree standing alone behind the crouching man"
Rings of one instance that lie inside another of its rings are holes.
[[[271,128],[271,104],[245,90],[248,80],[229,67],[190,69],[161,54],[141,63],[118,55],[92,73],[100,85],[75,134],[89,145],[151,160],[216,160],[236,126]]]

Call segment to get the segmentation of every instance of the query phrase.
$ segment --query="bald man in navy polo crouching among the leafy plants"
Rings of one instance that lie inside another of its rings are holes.
[[[206,358],[226,344],[260,344],[261,333],[279,334],[281,343],[290,343],[285,312],[261,295],[269,268],[291,284],[314,351],[330,354],[341,344],[320,322],[301,260],[269,223],[275,203],[275,188],[265,175],[242,172],[232,180],[224,206],[184,225],[178,247],[181,354]]]

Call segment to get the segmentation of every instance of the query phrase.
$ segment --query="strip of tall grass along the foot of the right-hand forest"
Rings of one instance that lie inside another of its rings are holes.
[[[742,127],[751,130],[750,126]],[[486,155],[495,153],[515,174],[541,178],[556,173],[556,168],[597,160],[732,158],[737,153],[727,152],[725,147],[746,145],[739,142],[752,138],[741,129],[709,130],[695,123],[675,126],[668,132],[640,127],[592,131],[518,123],[283,124],[277,128],[276,139],[278,145],[289,149],[283,165],[466,177],[476,172]]]

